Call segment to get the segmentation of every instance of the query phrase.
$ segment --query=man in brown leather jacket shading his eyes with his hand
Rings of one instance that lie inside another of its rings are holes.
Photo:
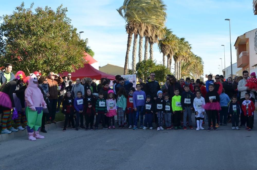
[[[57,107],[57,100],[58,100],[58,84],[62,83],[62,78],[55,74],[54,72],[50,72],[47,77],[48,82],[48,88],[49,88],[49,114],[47,116],[47,123],[51,124],[51,121],[53,123],[56,123],[55,114],[56,114],[56,107]]]

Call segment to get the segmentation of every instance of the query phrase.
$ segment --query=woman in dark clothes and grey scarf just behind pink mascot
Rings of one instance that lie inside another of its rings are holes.
[[[47,133],[45,130],[45,118],[49,114],[49,91],[48,91],[48,82],[46,76],[41,76],[38,80],[38,88],[41,90],[41,93],[43,94],[43,98],[45,100],[45,103],[47,103],[47,108],[43,110],[43,116],[42,116],[42,122],[41,122],[41,132]],[[49,122],[50,123],[50,122]]]

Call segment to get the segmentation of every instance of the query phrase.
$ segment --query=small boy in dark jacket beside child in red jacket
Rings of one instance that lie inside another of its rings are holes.
[[[235,127],[236,127],[236,130],[239,130],[238,122],[239,122],[240,114],[241,114],[241,107],[237,103],[237,97],[233,96],[232,102],[230,102],[228,105],[228,115],[231,117],[232,130],[235,130]]]

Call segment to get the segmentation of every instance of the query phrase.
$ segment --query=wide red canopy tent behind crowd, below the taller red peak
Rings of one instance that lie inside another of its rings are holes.
[[[63,76],[67,76],[69,72],[61,73]],[[115,80],[115,76],[111,74],[104,73],[102,71],[96,70],[90,64],[84,64],[83,68],[76,70],[75,72],[71,73],[71,79],[75,80],[76,78],[84,78],[90,77],[91,79],[100,80],[101,78],[107,78],[110,80]]]

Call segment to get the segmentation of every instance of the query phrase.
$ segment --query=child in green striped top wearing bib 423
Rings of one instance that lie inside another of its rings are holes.
[[[103,129],[108,129],[105,127],[105,117],[106,117],[105,115],[107,113],[107,106],[106,106],[106,100],[104,99],[104,93],[100,91],[98,95],[99,95],[99,99],[96,100],[96,107],[95,107],[96,115],[97,115],[97,119],[95,123],[95,131],[98,130],[100,119],[102,119]]]

